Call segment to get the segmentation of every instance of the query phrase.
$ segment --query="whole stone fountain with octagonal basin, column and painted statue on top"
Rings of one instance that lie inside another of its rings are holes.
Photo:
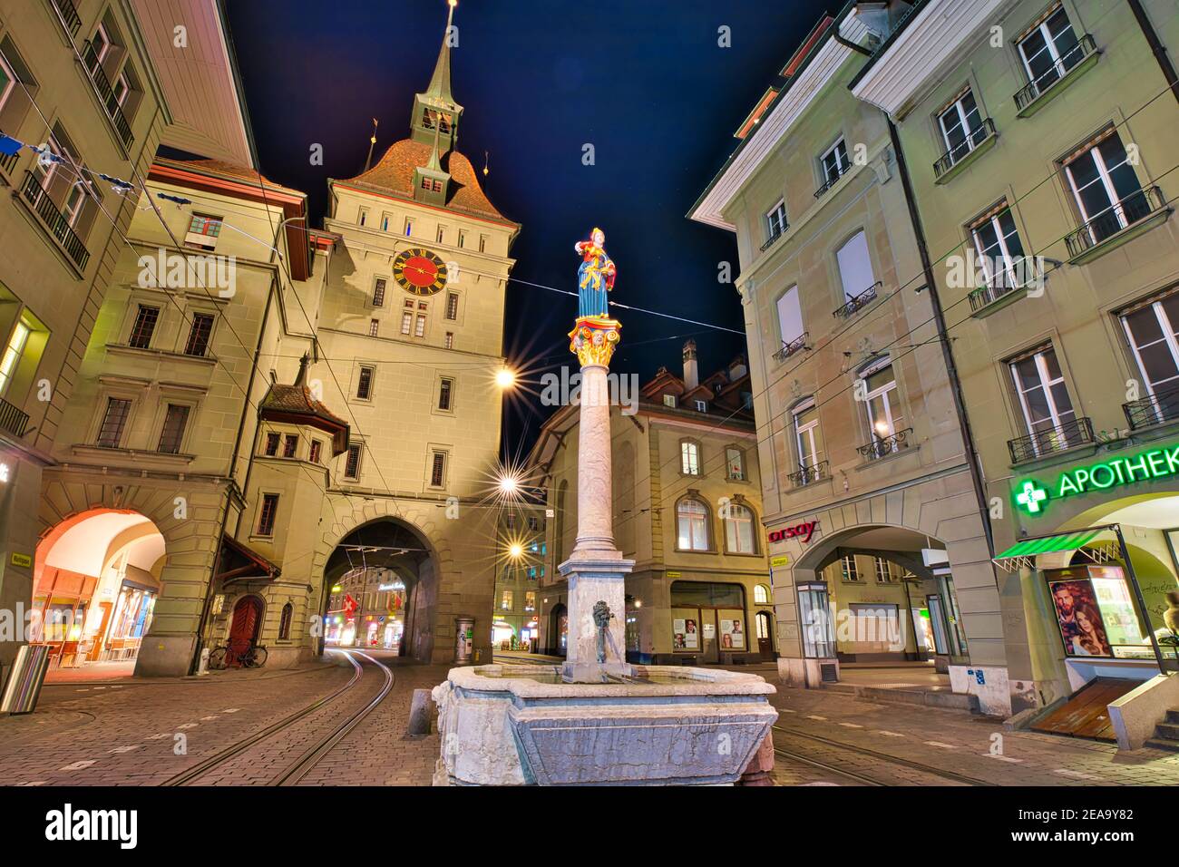
[[[582,257],[569,350],[581,364],[578,536],[564,665],[452,669],[434,688],[442,750],[435,784],[736,782],[778,714],[757,675],[630,665],[623,618],[634,566],[614,545],[607,373],[621,323],[608,315],[614,263],[594,229]]]

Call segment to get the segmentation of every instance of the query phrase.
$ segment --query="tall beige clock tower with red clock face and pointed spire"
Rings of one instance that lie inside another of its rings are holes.
[[[489,651],[498,536],[483,503],[499,462],[495,374],[520,231],[456,149],[454,6],[409,136],[371,169],[329,180],[324,229],[336,242],[304,326],[331,364],[312,359],[308,382],[353,422],[312,583],[327,606],[342,569],[364,560],[396,572],[407,585],[404,652],[422,662],[452,661],[462,633],[473,629],[474,649]]]

